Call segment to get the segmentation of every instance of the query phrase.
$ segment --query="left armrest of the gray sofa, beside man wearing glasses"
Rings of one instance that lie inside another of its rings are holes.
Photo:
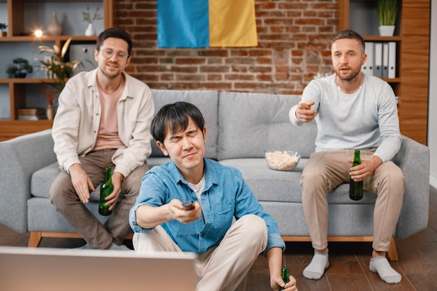
[[[57,161],[52,130],[0,142],[0,223],[27,232],[27,200],[32,174]]]

